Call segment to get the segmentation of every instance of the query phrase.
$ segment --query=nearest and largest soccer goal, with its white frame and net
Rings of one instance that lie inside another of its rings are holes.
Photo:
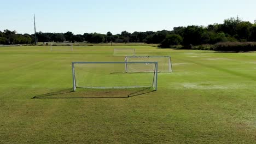
[[[133,69],[126,73],[125,67]],[[145,73],[144,69],[153,71]],[[72,62],[73,91],[77,88],[152,88],[158,81],[157,62]]]

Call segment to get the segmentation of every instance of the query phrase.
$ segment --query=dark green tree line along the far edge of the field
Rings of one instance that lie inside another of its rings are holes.
[[[182,45],[191,47],[203,44],[216,44],[220,42],[246,42],[256,41],[256,21],[242,21],[239,17],[231,17],[224,20],[224,23],[214,23],[206,27],[187,26],[174,27],[172,31],[147,31],[133,32],[126,31],[120,34],[84,33],[43,33],[37,32],[38,42],[86,42],[86,43],[148,43],[160,44],[159,47],[172,47]],[[34,34],[17,34],[16,31],[5,29],[0,31],[0,44],[32,44]]]

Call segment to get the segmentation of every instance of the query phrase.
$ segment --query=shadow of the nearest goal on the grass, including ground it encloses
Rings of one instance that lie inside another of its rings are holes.
[[[93,99],[93,98],[129,98],[152,93],[150,87],[139,89],[86,89],[74,92],[72,88],[34,96],[32,99]]]

